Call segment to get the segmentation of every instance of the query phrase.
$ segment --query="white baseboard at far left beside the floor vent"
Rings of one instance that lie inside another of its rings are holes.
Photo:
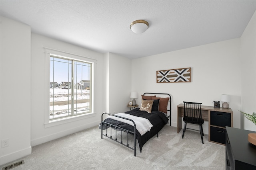
[[[32,153],[31,146],[0,157],[0,165],[7,164]]]

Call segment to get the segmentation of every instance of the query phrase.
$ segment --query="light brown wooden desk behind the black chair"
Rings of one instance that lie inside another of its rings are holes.
[[[227,125],[223,125],[222,126],[222,125],[214,125],[214,122],[211,123],[211,121],[210,121],[210,119],[211,119],[211,111],[212,111],[212,113],[216,113],[216,112],[230,113],[230,126],[233,127],[233,111],[232,111],[232,109],[230,109],[230,108],[224,109],[222,107],[214,108],[213,106],[201,106],[201,111],[202,111],[202,118],[204,119],[204,121],[208,121],[209,122],[208,123],[209,124],[209,128],[208,128],[208,131],[209,131],[208,137],[209,137],[209,139],[208,139],[208,141],[211,141],[211,142],[223,145],[223,143],[215,142],[215,141],[211,140],[211,137],[210,137],[211,136],[211,127],[212,128],[224,129],[225,132],[223,132],[223,133],[224,133],[224,136],[225,136],[225,133],[226,133],[225,126],[227,126]],[[184,114],[184,104],[179,104],[177,106],[177,133],[180,133],[180,130],[182,129],[182,117],[183,117],[183,114]],[[225,141],[225,139],[224,139],[224,141]]]

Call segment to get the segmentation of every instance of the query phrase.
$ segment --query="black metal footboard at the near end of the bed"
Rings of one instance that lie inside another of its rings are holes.
[[[107,122],[103,121],[103,115],[104,114],[112,115],[112,116],[115,116],[115,117],[119,117],[119,118],[122,118],[122,119],[126,119],[126,120],[129,120],[129,121],[132,121],[132,123],[134,124],[134,131],[132,132],[132,131],[129,131],[129,130],[124,129],[122,127],[117,127],[116,125],[112,125],[110,123],[107,123]],[[110,135],[107,134],[107,129],[108,128],[106,128],[106,133],[103,134],[103,126],[104,125],[107,126],[107,127],[110,127]],[[115,138],[115,139],[112,138],[112,129],[114,129],[115,133],[116,133],[116,131],[121,131],[121,141],[118,141],[117,138]],[[122,132],[127,133],[127,144],[123,143]],[[129,143],[128,143],[128,133],[131,133],[132,135],[134,135],[134,148],[129,146]],[[112,139],[113,141],[116,141],[116,142],[118,142],[118,143],[120,143],[120,144],[122,144],[122,145],[124,145],[124,146],[126,146],[126,147],[128,147],[128,148],[130,148],[132,150],[134,150],[134,156],[136,156],[136,124],[134,123],[134,121],[132,119],[128,119],[126,117],[120,117],[118,115],[114,115],[114,114],[110,114],[110,113],[106,113],[106,112],[102,113],[102,115],[101,115],[101,139],[102,139],[103,136],[108,137],[109,139]]]

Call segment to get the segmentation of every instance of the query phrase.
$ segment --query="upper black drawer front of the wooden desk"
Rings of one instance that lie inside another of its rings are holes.
[[[211,125],[231,127],[231,114],[218,111],[211,111]]]

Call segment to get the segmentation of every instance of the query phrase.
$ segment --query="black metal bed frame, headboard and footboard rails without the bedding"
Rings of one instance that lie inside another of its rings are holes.
[[[167,94],[167,93],[144,93],[143,96],[145,96],[145,94],[163,94],[163,95],[170,96],[170,94]],[[170,115],[167,115],[167,118],[170,118],[169,121],[170,121],[170,126],[171,126],[171,96],[170,96],[170,100],[168,100],[168,102],[170,102],[170,109],[167,109],[167,111],[170,112]],[[129,131],[129,130],[124,129],[122,127],[117,127],[116,125],[112,125],[110,123],[107,123],[107,122],[103,121],[103,115],[105,115],[105,114],[106,115],[112,115],[112,116],[115,116],[115,117],[119,117],[119,118],[122,118],[122,119],[126,119],[128,121],[132,121],[132,123],[134,124],[134,131],[132,132],[132,131]],[[108,128],[106,128],[106,133],[103,134],[103,126],[104,125],[110,127],[110,136],[108,136],[108,134],[107,134],[107,129]],[[115,139],[112,138],[112,129],[115,129],[115,131],[121,131],[121,141],[118,141],[117,138],[115,138]],[[123,141],[122,141],[122,137],[123,137],[122,132],[123,131],[125,133],[127,133],[127,144],[124,144]],[[129,143],[128,143],[128,137],[129,137],[128,134],[129,133],[134,135],[134,148],[129,146]],[[121,117],[121,116],[114,115],[114,114],[111,114],[111,113],[106,113],[106,112],[102,113],[102,115],[101,115],[101,139],[102,139],[103,136],[108,137],[109,139],[112,139],[113,141],[116,141],[116,142],[134,150],[134,156],[136,156],[136,124],[132,119],[128,119],[126,117]],[[158,137],[158,133],[156,134],[156,137]]]

